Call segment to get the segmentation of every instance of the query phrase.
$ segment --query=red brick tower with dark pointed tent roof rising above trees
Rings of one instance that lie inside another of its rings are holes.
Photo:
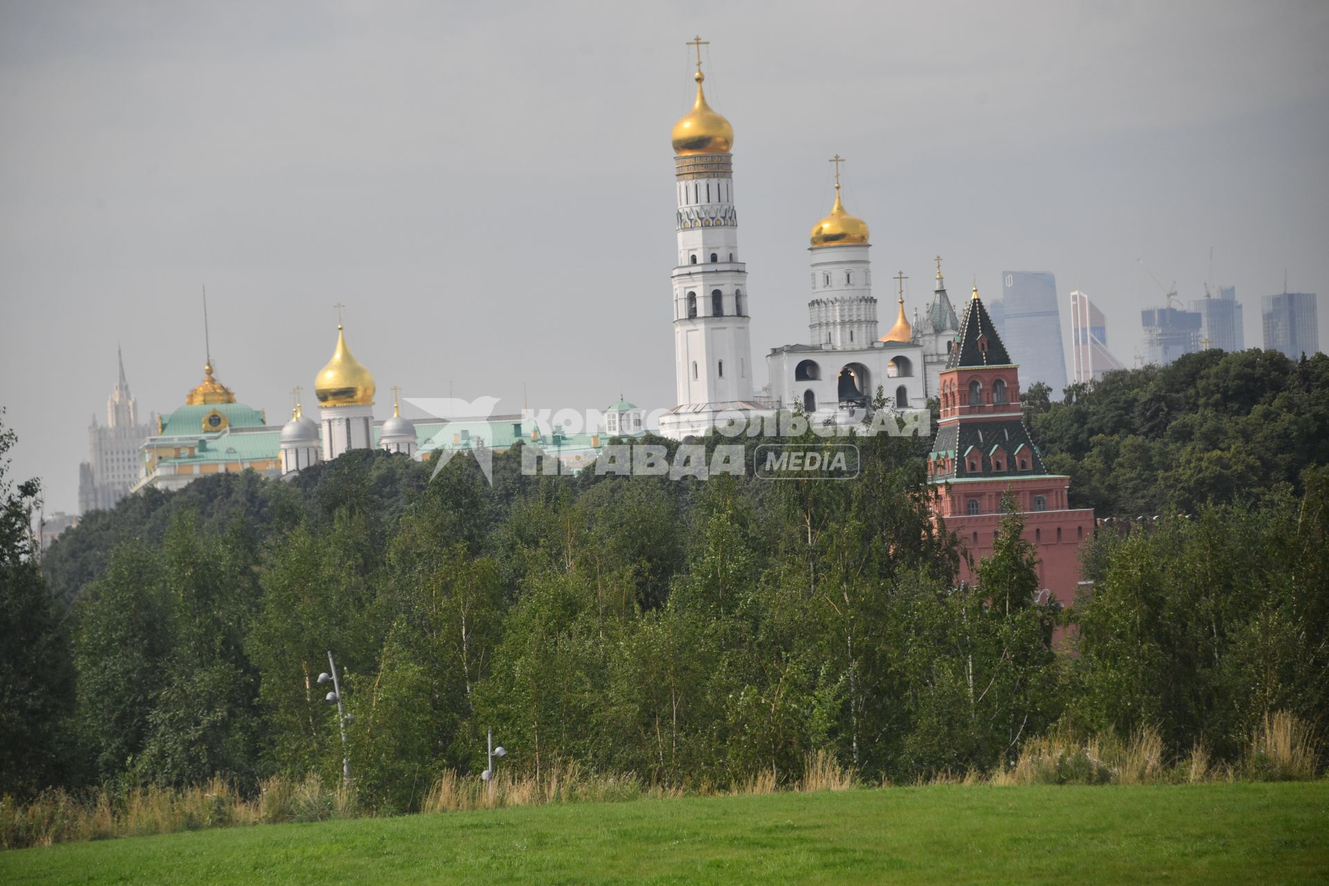
[[[1070,606],[1079,582],[1079,547],[1094,531],[1094,511],[1071,510],[1070,477],[1043,468],[1021,414],[1018,367],[978,299],[978,287],[948,347],[941,421],[928,464],[936,487],[933,513],[977,563],[991,554],[1009,489],[1025,519],[1025,538],[1038,549],[1041,588]],[[968,563],[961,563],[960,576],[973,580]]]

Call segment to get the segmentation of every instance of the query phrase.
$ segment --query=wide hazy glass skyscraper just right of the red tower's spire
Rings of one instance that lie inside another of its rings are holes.
[[[1061,400],[1066,387],[1066,353],[1062,351],[1062,316],[1057,304],[1057,278],[1050,271],[1002,272],[1002,321],[999,335],[1021,381],[1053,389]]]

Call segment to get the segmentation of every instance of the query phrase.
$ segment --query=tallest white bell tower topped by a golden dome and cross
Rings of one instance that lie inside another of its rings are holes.
[[[691,45],[696,46],[696,102],[674,124],[678,405],[661,418],[661,433],[674,438],[704,434],[722,410],[760,408],[752,401],[751,302],[734,209],[734,128],[706,102],[706,43],[698,37]]]

